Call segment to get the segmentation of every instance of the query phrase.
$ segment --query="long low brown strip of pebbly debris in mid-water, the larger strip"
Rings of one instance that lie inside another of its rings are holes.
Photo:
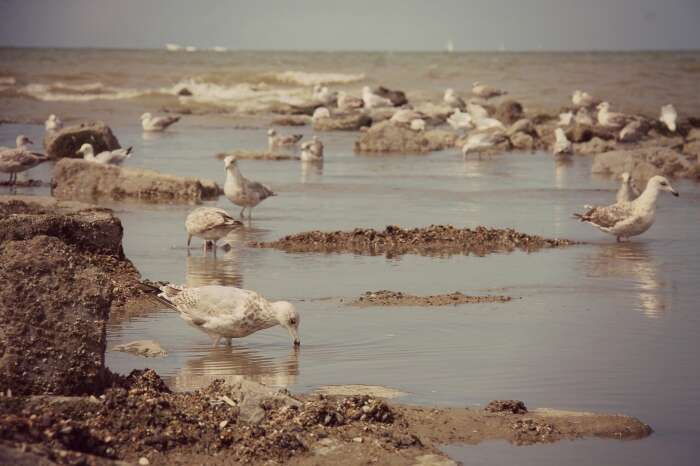
[[[353,254],[396,256],[402,254],[485,255],[520,249],[536,251],[575,244],[565,239],[547,239],[519,233],[512,229],[477,227],[457,228],[431,225],[403,229],[388,226],[383,231],[356,228],[353,231],[310,231],[285,236],[272,242],[255,242],[253,247],[276,248],[287,252],[344,252]]]

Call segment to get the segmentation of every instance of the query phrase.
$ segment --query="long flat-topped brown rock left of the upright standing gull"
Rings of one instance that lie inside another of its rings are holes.
[[[209,180],[63,159],[54,167],[51,192],[59,199],[199,203],[216,199],[222,191]]]

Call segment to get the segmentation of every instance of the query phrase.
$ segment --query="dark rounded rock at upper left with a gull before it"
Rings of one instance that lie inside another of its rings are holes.
[[[70,126],[56,133],[46,133],[44,136],[46,155],[52,159],[81,158],[76,152],[85,143],[92,144],[96,154],[121,147],[109,126],[101,121]]]

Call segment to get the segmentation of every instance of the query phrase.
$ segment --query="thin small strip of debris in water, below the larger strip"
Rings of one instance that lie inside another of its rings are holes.
[[[456,291],[454,293],[430,296],[415,296],[401,291],[367,291],[350,303],[352,306],[456,306],[473,303],[505,303],[510,296],[469,296]]]

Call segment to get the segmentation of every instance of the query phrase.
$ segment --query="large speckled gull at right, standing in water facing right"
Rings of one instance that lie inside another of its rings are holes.
[[[617,241],[641,235],[654,224],[656,199],[660,191],[668,191],[678,197],[663,176],[649,179],[644,192],[631,202],[621,202],[606,207],[593,207],[585,214],[574,214],[582,222],[590,223],[600,231],[616,236]]]

